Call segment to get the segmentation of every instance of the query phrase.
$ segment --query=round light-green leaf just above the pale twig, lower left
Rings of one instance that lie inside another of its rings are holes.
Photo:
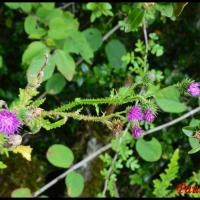
[[[68,147],[54,144],[47,151],[47,159],[56,167],[68,168],[73,163],[74,155]]]

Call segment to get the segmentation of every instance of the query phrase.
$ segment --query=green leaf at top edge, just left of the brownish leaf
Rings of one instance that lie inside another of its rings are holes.
[[[174,12],[173,3],[156,3],[155,8],[166,17],[172,17]]]

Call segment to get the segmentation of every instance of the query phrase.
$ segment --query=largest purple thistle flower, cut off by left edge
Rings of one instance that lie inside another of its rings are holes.
[[[7,110],[0,111],[0,133],[14,134],[19,131],[20,125],[21,122],[15,113]]]

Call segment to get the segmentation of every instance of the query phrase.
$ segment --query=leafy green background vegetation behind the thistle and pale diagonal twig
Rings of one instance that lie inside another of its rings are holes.
[[[33,80],[48,52],[49,63],[35,98],[46,97],[43,109],[54,109],[75,98],[103,98],[121,87],[143,84],[145,98],[151,96],[158,106],[156,120],[142,124],[144,130],[173,121],[199,106],[198,98],[183,95],[174,87],[186,78],[199,81],[199,11],[199,3],[1,4],[0,99],[8,105],[15,102],[19,88]],[[121,98],[126,92],[121,89]],[[88,106],[84,113],[111,114],[126,107]],[[125,129],[127,120],[123,124]],[[69,118],[65,125],[50,131],[47,125],[38,131],[37,123],[35,129],[30,125],[31,131],[24,127],[20,134],[25,135],[23,144],[33,149],[32,159],[14,153],[1,156],[7,167],[0,171],[0,196],[33,195],[107,144],[112,144],[112,149],[42,195],[178,196],[177,184],[200,182],[199,153],[188,154],[191,149],[199,150],[199,140],[192,137],[199,124],[197,113],[141,140],[134,139],[128,127],[120,145],[121,137],[115,131],[92,121]],[[64,146],[59,150],[55,144]],[[51,158],[50,150],[61,155],[61,161]],[[184,191],[182,195],[198,196]]]

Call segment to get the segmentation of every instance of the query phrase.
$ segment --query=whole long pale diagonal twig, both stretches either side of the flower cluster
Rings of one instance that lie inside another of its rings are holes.
[[[165,123],[165,124],[162,124],[156,128],[153,128],[149,131],[146,131],[144,133],[144,135],[147,135],[147,134],[150,134],[150,133],[154,133],[154,132],[157,132],[159,130],[162,130],[164,128],[167,128],[169,126],[172,126],[178,122],[180,122],[181,120],[183,119],[186,119],[187,117],[191,116],[191,115],[194,115],[195,113],[199,112],[200,111],[200,106],[189,111],[188,113],[182,115],[181,117],[178,117],[174,120],[172,120],[171,122],[168,122],[168,123]],[[84,166],[87,162],[95,159],[97,156],[99,156],[100,154],[102,154],[103,152],[107,151],[108,149],[110,149],[112,147],[111,143],[110,144],[107,144],[105,145],[104,147],[100,148],[99,150],[97,150],[96,152],[94,152],[93,154],[89,155],[88,157],[86,157],[85,159],[83,159],[82,161],[78,162],[77,164],[73,165],[70,169],[68,169],[66,172],[62,173],[61,175],[57,176],[55,179],[53,179],[52,181],[50,181],[49,183],[47,183],[46,185],[44,185],[42,188],[40,188],[38,191],[36,191],[34,194],[33,194],[33,197],[37,197],[39,196],[40,194],[42,194],[44,191],[46,191],[48,188],[52,187],[54,184],[56,184],[58,181],[60,181],[61,179],[65,178],[65,176],[67,174],[69,174],[70,172]]]

